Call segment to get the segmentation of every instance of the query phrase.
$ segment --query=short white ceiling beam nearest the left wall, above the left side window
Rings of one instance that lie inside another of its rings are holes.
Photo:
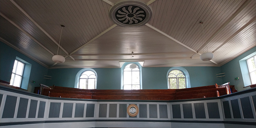
[[[5,18],[6,20],[8,20],[12,25],[14,25],[15,27],[17,27],[20,31],[22,31],[23,33],[25,33],[27,36],[29,36],[33,41],[35,41],[39,46],[41,46],[43,49],[45,49],[47,52],[49,52],[50,54],[54,55],[49,49],[45,48],[45,46],[43,46],[39,41],[37,41],[37,39],[35,39],[32,35],[30,35],[29,33],[27,33],[25,30],[23,30],[21,27],[19,27],[16,23],[14,23],[12,20],[10,20],[9,18],[7,18],[4,14],[2,14],[0,12],[0,15],[3,16],[3,18]]]

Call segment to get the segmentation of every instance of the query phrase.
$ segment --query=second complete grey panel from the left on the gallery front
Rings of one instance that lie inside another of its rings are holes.
[[[26,99],[26,98],[19,99],[19,108],[18,108],[17,118],[26,118],[28,102],[29,102],[29,99]]]

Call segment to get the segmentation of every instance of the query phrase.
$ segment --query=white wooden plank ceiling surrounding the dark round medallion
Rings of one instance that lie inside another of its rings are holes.
[[[255,0],[142,0],[153,15],[139,27],[112,22],[119,2],[0,0],[0,41],[47,68],[221,66],[256,46]],[[60,25],[66,61],[56,64]],[[214,59],[200,60],[207,49]]]

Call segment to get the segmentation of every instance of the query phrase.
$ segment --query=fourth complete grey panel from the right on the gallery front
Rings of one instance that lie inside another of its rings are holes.
[[[218,102],[207,103],[209,118],[220,118]]]

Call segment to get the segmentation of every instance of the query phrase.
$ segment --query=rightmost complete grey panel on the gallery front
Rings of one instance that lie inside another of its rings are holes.
[[[252,107],[249,97],[241,98],[240,100],[244,118],[253,118]]]

